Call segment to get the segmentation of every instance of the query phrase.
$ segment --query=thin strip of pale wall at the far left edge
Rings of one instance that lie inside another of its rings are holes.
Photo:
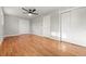
[[[2,8],[0,7],[0,41],[3,39],[3,23],[4,23],[4,16]]]

